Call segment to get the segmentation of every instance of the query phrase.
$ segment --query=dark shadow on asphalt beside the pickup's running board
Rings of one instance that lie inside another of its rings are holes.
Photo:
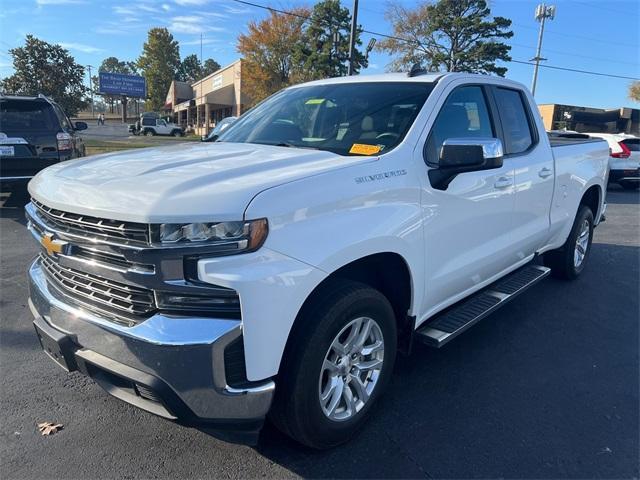
[[[399,358],[350,443],[309,451],[267,426],[257,450],[311,478],[637,476],[639,265],[639,247],[594,244],[577,281]]]

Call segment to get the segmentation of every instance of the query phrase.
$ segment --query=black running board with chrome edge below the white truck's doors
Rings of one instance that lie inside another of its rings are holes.
[[[521,267],[427,321],[416,331],[416,340],[440,348],[550,273],[540,265]]]

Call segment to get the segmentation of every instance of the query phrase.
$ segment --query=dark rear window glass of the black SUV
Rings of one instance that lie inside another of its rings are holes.
[[[0,102],[0,132],[21,133],[60,130],[53,107],[44,101],[3,100]]]

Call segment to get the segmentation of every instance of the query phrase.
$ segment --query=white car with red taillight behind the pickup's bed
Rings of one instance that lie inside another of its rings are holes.
[[[640,138],[624,133],[589,133],[607,141],[610,149],[609,182],[626,190],[640,188]]]

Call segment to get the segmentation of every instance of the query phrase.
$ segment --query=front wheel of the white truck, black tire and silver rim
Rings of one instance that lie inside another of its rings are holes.
[[[358,331],[354,329],[367,324],[369,334],[361,351],[375,353],[365,353],[362,359],[353,355],[336,358],[335,342],[348,345],[350,334]],[[388,384],[396,345],[395,316],[384,295],[362,283],[341,279],[332,282],[314,294],[294,325],[276,383],[271,421],[286,435],[311,448],[327,449],[348,441],[366,422]],[[330,369],[326,368],[326,361]],[[366,368],[358,373],[355,366],[376,364],[380,368],[377,373]],[[347,386],[342,390],[344,379]],[[364,387],[357,389],[358,385]],[[346,393],[347,388],[350,394]],[[323,394],[328,401],[322,402]],[[351,408],[347,408],[349,396],[353,400]],[[335,398],[338,403],[332,409]]]

